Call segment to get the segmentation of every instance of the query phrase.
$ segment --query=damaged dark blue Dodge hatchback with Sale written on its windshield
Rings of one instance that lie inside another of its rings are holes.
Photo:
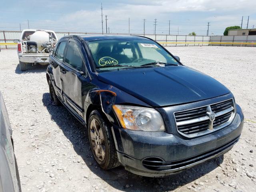
[[[168,176],[226,153],[242,132],[230,90],[149,38],[64,36],[46,77],[103,169]]]

